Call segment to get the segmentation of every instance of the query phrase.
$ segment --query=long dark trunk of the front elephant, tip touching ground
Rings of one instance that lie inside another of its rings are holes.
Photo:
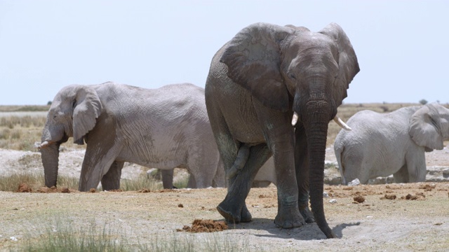
[[[323,209],[324,160],[326,158],[326,138],[331,109],[328,102],[313,101],[304,111],[304,129],[309,151],[309,190],[311,211],[316,224],[328,238],[334,238]]]

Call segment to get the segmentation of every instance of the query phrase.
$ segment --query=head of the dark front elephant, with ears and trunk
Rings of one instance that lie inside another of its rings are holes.
[[[359,71],[349,38],[335,23],[319,32],[257,23],[229,41],[220,62],[234,83],[264,106],[291,113],[292,124],[304,130],[311,209],[321,230],[333,237],[323,211],[323,169],[328,123]]]

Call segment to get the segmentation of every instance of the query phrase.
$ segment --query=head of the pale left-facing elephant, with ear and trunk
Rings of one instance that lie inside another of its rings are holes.
[[[100,98],[92,87],[69,85],[56,94],[38,146],[47,187],[56,186],[60,144],[69,137],[75,144],[84,144],[84,137],[95,126],[101,110]]]

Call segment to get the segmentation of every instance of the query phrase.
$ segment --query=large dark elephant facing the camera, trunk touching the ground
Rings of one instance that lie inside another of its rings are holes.
[[[335,237],[323,210],[326,135],[332,119],[344,127],[337,107],[358,71],[354,48],[335,23],[314,32],[259,22],[215,53],[205,94],[228,180],[217,206],[226,221],[252,220],[245,200],[258,169],[272,156],[274,223],[295,228],[316,220],[326,237]]]

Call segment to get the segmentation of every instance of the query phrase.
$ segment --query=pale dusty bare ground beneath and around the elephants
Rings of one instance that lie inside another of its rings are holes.
[[[0,192],[0,250],[20,248],[30,235],[43,234],[48,227],[58,232],[58,221],[64,221],[118,230],[130,244],[150,243],[156,238],[170,240],[175,235],[193,236],[198,241],[222,237],[247,244],[244,247],[250,251],[448,251],[449,180],[434,182],[434,176],[442,176],[448,169],[449,150],[427,153],[426,157],[428,182],[325,185],[329,195],[324,199],[326,218],[340,239],[324,239],[316,224],[276,228],[274,186],[250,191],[246,204],[252,222],[229,225],[228,230],[214,233],[176,230],[192,225],[196,219],[223,221],[215,207],[225,198],[225,188],[149,193],[79,193],[71,189],[70,193]],[[82,160],[83,151],[63,151],[60,174],[79,176]],[[335,162],[332,148],[328,148],[326,160]],[[1,174],[39,169],[43,169],[39,153],[0,149]],[[123,177],[132,179],[140,172],[139,166],[127,164]]]

